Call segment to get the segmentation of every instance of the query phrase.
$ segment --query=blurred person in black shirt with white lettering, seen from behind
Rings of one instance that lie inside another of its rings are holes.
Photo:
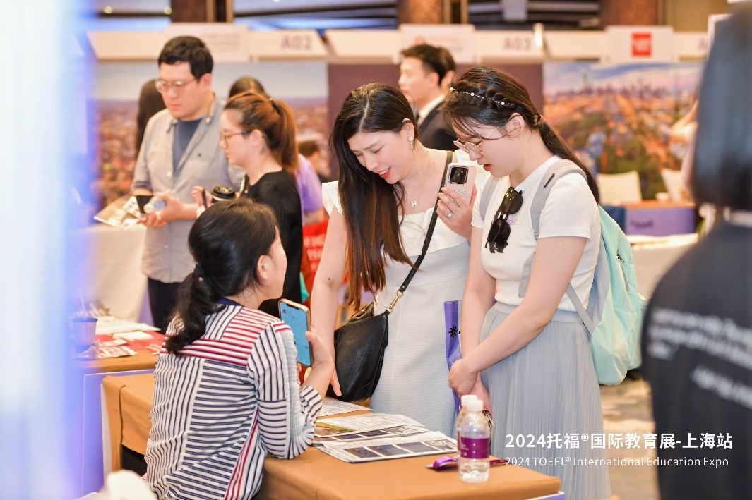
[[[643,326],[664,500],[752,498],[750,27],[752,5],[717,25],[690,172],[696,202],[729,218],[666,273]]]

